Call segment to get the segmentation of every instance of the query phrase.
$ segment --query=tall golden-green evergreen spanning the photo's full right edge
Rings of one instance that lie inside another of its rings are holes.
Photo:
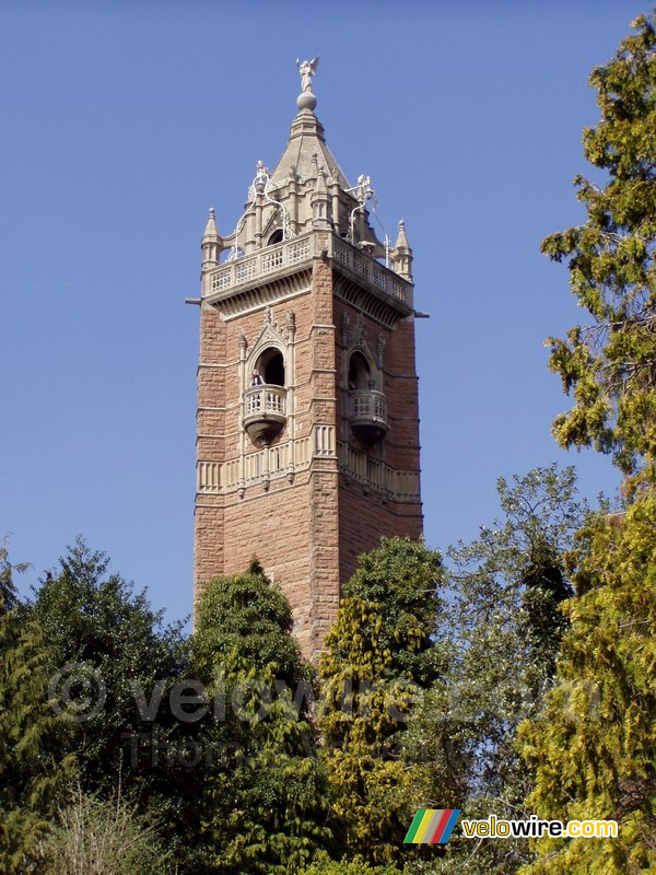
[[[544,250],[572,255],[571,284],[595,319],[551,341],[551,366],[575,406],[563,445],[612,451],[628,475],[625,514],[590,515],[570,565],[577,597],[542,715],[520,727],[537,768],[528,804],[541,817],[614,819],[617,839],[542,840],[535,875],[632,875],[656,868],[656,16],[634,22],[593,72],[601,120],[586,156],[605,188],[579,179],[587,222]]]

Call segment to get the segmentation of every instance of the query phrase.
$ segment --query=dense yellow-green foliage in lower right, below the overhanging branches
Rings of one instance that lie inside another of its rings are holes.
[[[581,597],[565,604],[558,684],[520,727],[540,817],[619,822],[604,841],[544,839],[531,875],[656,868],[656,497],[588,518],[569,557]]]

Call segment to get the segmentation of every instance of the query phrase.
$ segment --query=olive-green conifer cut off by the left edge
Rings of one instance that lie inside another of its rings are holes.
[[[74,774],[66,726],[48,705],[49,653],[0,548],[0,871],[34,871],[48,818]]]

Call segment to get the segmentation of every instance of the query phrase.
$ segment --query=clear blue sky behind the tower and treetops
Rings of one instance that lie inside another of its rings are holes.
[[[583,220],[587,85],[632,2],[0,4],[0,535],[23,591],[78,534],[191,607],[200,236],[238,219],[320,56],[317,115],[414,248],[426,540],[471,538],[495,480],[560,451],[548,335],[585,319],[539,253]]]

